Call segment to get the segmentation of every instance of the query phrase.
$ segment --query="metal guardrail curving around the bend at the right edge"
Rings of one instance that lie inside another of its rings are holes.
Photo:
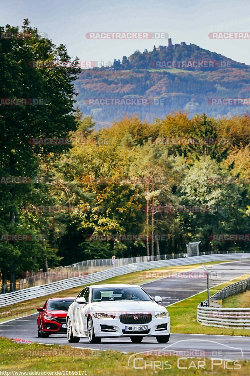
[[[225,299],[250,290],[250,278],[229,285],[211,296],[211,300]],[[250,308],[197,307],[197,321],[206,326],[250,329]]]

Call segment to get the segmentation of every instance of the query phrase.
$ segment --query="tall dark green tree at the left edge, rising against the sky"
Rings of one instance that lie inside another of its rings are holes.
[[[18,27],[0,27],[0,33],[6,32],[20,33]],[[80,69],[76,60],[68,67],[55,63],[70,62],[65,46],[56,47],[49,39],[39,36],[28,20],[24,20],[22,33],[27,38],[0,39],[0,90],[3,98],[38,99],[42,105],[1,103],[1,176],[22,176],[30,180],[28,184],[0,185],[3,200],[0,224],[2,234],[24,234],[28,230],[34,236],[42,231],[40,222],[22,213],[22,207],[34,197],[38,166],[43,159],[49,153],[58,155],[68,146],[36,144],[33,138],[63,138],[75,129],[72,82]],[[34,61],[47,64],[34,64]],[[39,194],[36,199],[36,204],[42,203]],[[5,280],[10,277],[10,291],[15,290],[16,265],[19,271],[26,270],[29,258],[30,267],[37,267],[43,251],[43,243],[39,241],[32,246],[31,242],[25,245],[24,242],[1,242],[1,274]]]

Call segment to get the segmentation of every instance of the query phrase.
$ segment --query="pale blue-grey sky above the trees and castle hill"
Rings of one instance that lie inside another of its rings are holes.
[[[250,65],[249,39],[210,39],[210,32],[250,32],[249,0],[0,0],[0,25],[31,26],[65,44],[72,58],[111,61],[135,50],[153,50],[166,39],[87,39],[88,32],[165,32],[172,43],[186,41]]]

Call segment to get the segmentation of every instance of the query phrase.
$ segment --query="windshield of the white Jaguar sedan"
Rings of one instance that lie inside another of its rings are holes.
[[[94,288],[92,302],[109,302],[112,300],[147,300],[150,296],[140,287],[102,287]]]

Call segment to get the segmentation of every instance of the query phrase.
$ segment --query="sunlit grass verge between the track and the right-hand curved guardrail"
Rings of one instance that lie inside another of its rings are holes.
[[[243,279],[246,279],[246,275],[237,277],[232,281],[225,282],[216,288],[211,288],[210,296],[215,294],[218,289],[222,290],[224,287]],[[250,330],[248,329],[220,328],[214,326],[205,326],[198,323],[196,320],[197,306],[199,305],[199,303],[206,299],[207,292],[199,293],[191,298],[183,300],[182,302],[175,303],[174,305],[167,307],[171,319],[171,332],[250,336]]]

